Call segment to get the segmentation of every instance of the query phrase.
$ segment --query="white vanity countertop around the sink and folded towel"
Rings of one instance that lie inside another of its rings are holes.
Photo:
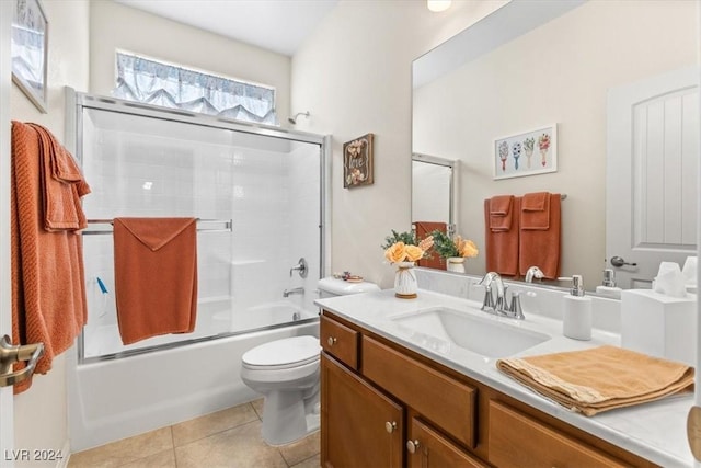
[[[502,374],[496,369],[496,358],[485,357],[455,345],[445,345],[445,343],[436,346],[435,341],[425,340],[421,334],[409,332],[405,327],[393,321],[392,317],[443,306],[552,336],[516,356],[575,351],[601,344],[620,345],[618,334],[594,330],[591,341],[572,340],[563,336],[562,322],[559,320],[528,312],[526,320],[496,317],[479,310],[481,304],[473,300],[423,289],[418,290],[418,297],[415,299],[400,299],[394,297],[392,289],[386,289],[379,293],[318,299],[315,304],[338,317],[655,464],[664,467],[693,466],[693,456],[687,443],[686,432],[687,414],[693,404],[693,397],[690,393],[585,416],[545,399]]]

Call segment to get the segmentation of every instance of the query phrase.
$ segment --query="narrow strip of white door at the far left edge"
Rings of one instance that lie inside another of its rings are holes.
[[[10,30],[14,2],[0,1],[0,336],[12,335],[10,298]],[[14,466],[12,387],[0,388],[0,466]]]

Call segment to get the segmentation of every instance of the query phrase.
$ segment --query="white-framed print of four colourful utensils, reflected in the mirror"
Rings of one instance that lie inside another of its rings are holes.
[[[558,124],[494,140],[494,180],[558,171]]]

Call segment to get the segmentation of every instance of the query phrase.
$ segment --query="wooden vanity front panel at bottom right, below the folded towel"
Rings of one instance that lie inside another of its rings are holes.
[[[527,414],[490,401],[490,463],[498,467],[624,467]]]

